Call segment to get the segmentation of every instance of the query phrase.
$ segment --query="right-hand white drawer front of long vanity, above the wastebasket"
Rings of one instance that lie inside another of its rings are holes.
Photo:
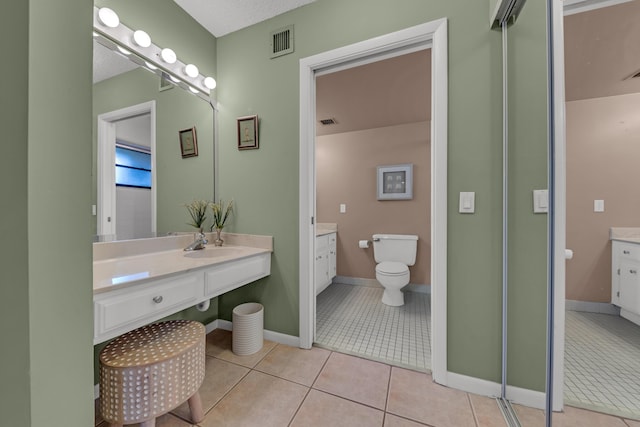
[[[205,295],[213,298],[271,274],[271,253],[216,265],[205,271]]]

